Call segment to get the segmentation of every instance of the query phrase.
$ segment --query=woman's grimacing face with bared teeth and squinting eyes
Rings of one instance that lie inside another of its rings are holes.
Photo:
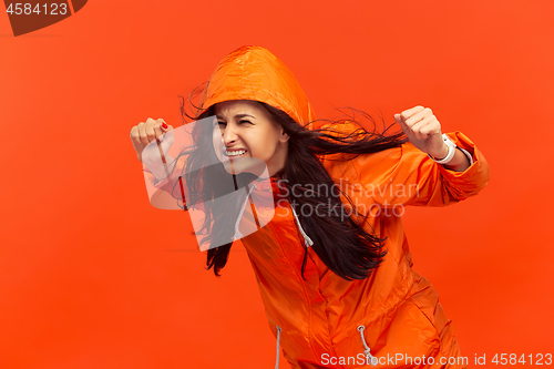
[[[218,124],[218,130],[217,126],[214,130],[214,147],[228,173],[249,172],[260,176],[260,161],[267,165],[269,175],[285,167],[289,136],[259,103],[233,100],[217,103],[214,109]]]

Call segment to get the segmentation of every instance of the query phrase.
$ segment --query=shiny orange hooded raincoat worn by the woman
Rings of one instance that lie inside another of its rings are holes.
[[[239,48],[218,64],[203,93],[201,112],[217,102],[239,99],[279,107],[297,122],[316,120],[293,73],[260,47]],[[347,122],[340,129],[349,131],[353,125]],[[346,154],[320,156],[336,184],[366,215],[365,229],[388,237],[383,263],[363,280],[340,278],[311,247],[306,280],[301,278],[302,243],[309,235],[295,219],[290,204],[279,197],[284,187],[271,178],[275,216],[242,242],[269,328],[293,368],[363,368],[371,356],[378,360],[377,368],[465,368],[461,359],[444,365],[460,356],[452,322],[435,289],[411,268],[400,216],[402,206],[444,206],[476,195],[486,185],[489,166],[482,153],[463,133],[448,135],[472,156],[473,163],[464,172],[437,164],[411,143],[351,161]],[[155,188],[174,188],[167,182],[156,185],[147,171],[145,175]],[[263,188],[252,195],[258,189]],[[173,195],[181,198],[181,194]]]

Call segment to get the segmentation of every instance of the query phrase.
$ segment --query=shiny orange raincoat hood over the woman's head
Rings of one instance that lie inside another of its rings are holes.
[[[267,103],[301,125],[316,120],[293,72],[263,47],[240,47],[217,64],[202,93],[196,117],[213,104],[229,100]]]

